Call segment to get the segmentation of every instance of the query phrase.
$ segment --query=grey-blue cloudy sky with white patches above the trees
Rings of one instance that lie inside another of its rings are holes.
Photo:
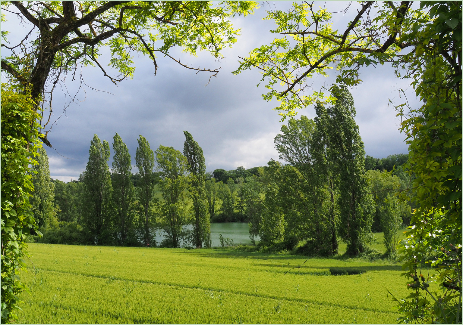
[[[326,6],[344,9],[347,4],[335,1]],[[275,3],[277,8],[283,9],[289,5],[288,2]],[[320,2],[320,6],[324,5],[325,2]],[[195,74],[169,58],[158,59],[159,69],[155,77],[149,58],[136,57],[134,78],[119,86],[114,86],[98,68],[85,68],[82,75],[86,84],[100,91],[86,87],[85,92],[81,91],[77,96],[79,100],[71,103],[65,115],[53,126],[48,139],[54,149],[46,147],[51,177],[63,181],[78,178],[87,164],[93,135],[97,134],[101,140],[112,144],[116,132],[127,144],[132,164],[135,163],[133,157],[138,135],[143,135],[153,150],[162,144],[182,151],[183,130],[188,130],[203,148],[207,171],[263,166],[269,159],[277,159],[273,138],[282,125],[280,116],[272,110],[277,104],[261,97],[266,89],[256,87],[261,78],[258,71],[246,71],[237,76],[231,73],[238,68],[238,56],[246,56],[251,49],[268,44],[275,37],[269,33],[274,28],[273,23],[262,19],[268,6],[264,3],[255,15],[232,19],[233,25],[241,28],[241,35],[232,49],[223,51],[224,60],[215,61],[208,53],[190,57],[181,50],[172,51],[174,57],[181,57],[182,62],[195,67],[221,67],[217,78],[212,78],[206,87],[208,74]],[[352,14],[357,13],[355,6],[351,6],[345,15],[340,13],[333,17],[335,27],[341,29],[347,25]],[[8,18],[2,29],[12,31],[10,42],[13,44],[15,37],[24,35],[25,28],[13,17]],[[101,57],[102,61],[104,59]],[[355,119],[365,152],[377,158],[407,153],[404,135],[398,131],[400,120],[395,117],[396,111],[389,107],[388,100],[402,103],[403,98],[399,98],[397,92],[402,88],[408,89],[407,98],[411,104],[417,104],[409,81],[395,78],[394,70],[387,66],[363,68],[360,78],[363,83],[350,91],[356,104]],[[333,80],[316,78],[313,88],[319,90],[321,86],[331,85]],[[77,83],[70,78],[66,80],[70,93],[78,88]],[[66,98],[69,104],[69,97],[64,96],[64,92],[54,93],[55,118],[63,112]],[[315,115],[313,107],[300,111],[301,114]]]

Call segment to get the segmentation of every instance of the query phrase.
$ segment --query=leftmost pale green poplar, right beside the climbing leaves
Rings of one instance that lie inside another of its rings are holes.
[[[34,218],[41,230],[58,227],[55,209],[55,184],[50,178],[47,152],[43,147],[38,150],[37,165],[32,167],[34,192],[29,200]]]

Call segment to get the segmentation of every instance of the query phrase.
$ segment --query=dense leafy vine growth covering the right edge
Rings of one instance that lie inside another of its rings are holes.
[[[412,78],[422,105],[403,111],[401,131],[407,135],[409,159],[416,175],[416,202],[411,224],[400,251],[410,294],[401,299],[401,321],[458,323],[462,318],[462,3],[421,2],[429,15],[413,19],[402,38],[415,51],[397,66]],[[404,197],[407,195],[404,193]],[[427,273],[425,281],[414,277]],[[437,282],[438,290],[427,287]],[[421,289],[421,290],[419,290]]]

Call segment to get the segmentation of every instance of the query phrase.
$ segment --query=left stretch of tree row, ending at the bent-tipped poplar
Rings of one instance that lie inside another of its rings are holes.
[[[153,152],[140,135],[131,156],[116,133],[112,172],[109,143],[94,135],[86,169],[78,180],[51,180],[48,158],[40,149],[34,166],[34,216],[42,242],[61,244],[143,245],[146,247],[211,246],[205,190],[204,155],[191,134],[181,153],[160,145]],[[134,181],[137,186],[134,186]],[[186,224],[193,224],[191,230]],[[156,242],[156,230],[164,239]]]

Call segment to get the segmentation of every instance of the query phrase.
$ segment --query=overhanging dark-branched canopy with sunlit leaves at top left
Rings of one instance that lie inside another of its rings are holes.
[[[190,55],[207,50],[215,58],[237,41],[238,29],[229,19],[253,13],[252,1],[4,1],[2,10],[15,14],[29,31],[19,44],[9,44],[9,31],[2,30],[1,46],[10,53],[2,56],[1,68],[12,81],[30,86],[33,99],[51,100],[52,92],[68,74],[74,80],[82,66],[97,66],[114,84],[131,78],[136,54],[148,55],[156,75],[159,56],[181,66],[212,76],[219,69],[190,67],[169,54],[180,47]],[[2,20],[6,16],[2,14]],[[116,71],[106,71],[102,48],[108,47],[107,62]],[[210,79],[209,79],[210,80]],[[39,104],[39,101],[36,103]],[[42,128],[51,125],[43,117]],[[53,121],[51,121],[53,122]],[[47,134],[45,131],[45,135]],[[50,143],[44,138],[47,145]]]

